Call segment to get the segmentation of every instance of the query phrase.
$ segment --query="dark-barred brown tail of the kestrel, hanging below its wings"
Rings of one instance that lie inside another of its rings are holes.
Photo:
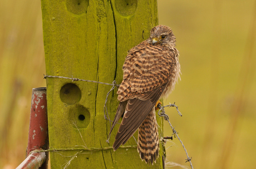
[[[138,130],[137,150],[141,160],[153,165],[159,156],[159,137],[155,107],[147,115]]]

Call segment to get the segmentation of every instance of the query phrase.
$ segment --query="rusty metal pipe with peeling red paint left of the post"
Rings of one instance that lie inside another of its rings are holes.
[[[34,88],[32,89],[28,146],[26,153],[27,158],[17,168],[21,169],[40,167],[41,169],[46,169],[48,162],[48,152],[32,151],[48,150],[48,142],[46,88]]]

